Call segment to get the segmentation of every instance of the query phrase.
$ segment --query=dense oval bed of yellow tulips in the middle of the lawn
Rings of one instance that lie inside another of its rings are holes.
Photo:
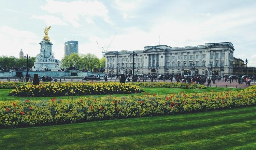
[[[9,96],[42,97],[70,95],[100,95],[140,93],[139,86],[119,82],[45,82],[23,85],[9,92]]]

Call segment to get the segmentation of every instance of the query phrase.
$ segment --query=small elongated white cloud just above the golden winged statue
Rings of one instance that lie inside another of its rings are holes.
[[[55,16],[50,16],[50,15],[43,15],[43,16],[38,16],[38,15],[32,15],[33,19],[39,19],[39,20],[44,20],[47,26],[52,26],[52,25],[63,25],[67,26],[68,24],[61,20],[59,17]]]

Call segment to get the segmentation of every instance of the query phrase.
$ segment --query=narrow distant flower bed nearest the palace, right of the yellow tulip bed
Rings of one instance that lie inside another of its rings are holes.
[[[139,87],[147,88],[181,88],[181,89],[205,89],[206,87],[199,84],[188,84],[181,82],[132,82]]]

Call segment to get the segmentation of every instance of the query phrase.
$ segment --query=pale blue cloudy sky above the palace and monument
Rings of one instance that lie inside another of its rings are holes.
[[[161,34],[160,44],[171,47],[231,42],[234,57],[247,58],[247,66],[256,66],[255,0],[0,2],[0,55],[19,57],[23,49],[24,54],[35,57],[43,27],[51,26],[48,36],[57,59],[64,56],[64,43],[69,40],[79,41],[80,54],[101,58],[102,47],[142,50],[159,45]]]

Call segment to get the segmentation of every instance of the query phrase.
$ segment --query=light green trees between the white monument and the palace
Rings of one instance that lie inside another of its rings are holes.
[[[65,55],[61,59],[62,67],[77,66],[79,70],[93,71],[95,68],[105,67],[105,58],[99,59],[93,54],[75,54],[72,53],[70,56]]]

